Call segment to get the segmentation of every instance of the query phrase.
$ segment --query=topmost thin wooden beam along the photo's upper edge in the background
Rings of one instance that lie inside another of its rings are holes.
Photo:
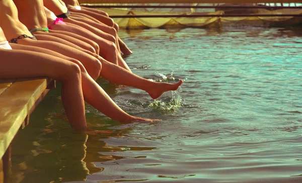
[[[79,0],[80,4],[145,3],[301,3],[301,0]]]

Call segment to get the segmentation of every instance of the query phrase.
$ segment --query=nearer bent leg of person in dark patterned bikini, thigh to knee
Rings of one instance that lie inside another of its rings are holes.
[[[19,39],[18,44],[42,47],[61,53],[65,56],[75,58],[84,65],[87,72],[93,79],[97,79],[100,75],[102,67],[100,61],[94,56],[91,56],[78,49],[57,42],[32,40],[29,38]]]

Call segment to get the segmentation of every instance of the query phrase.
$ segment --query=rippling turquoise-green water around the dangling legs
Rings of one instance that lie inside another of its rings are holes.
[[[302,182],[301,28],[120,35],[135,74],[184,84],[153,100],[98,82],[127,112],[162,121],[121,125],[87,105],[89,126],[112,134],[75,134],[53,90],[15,138],[11,182]]]

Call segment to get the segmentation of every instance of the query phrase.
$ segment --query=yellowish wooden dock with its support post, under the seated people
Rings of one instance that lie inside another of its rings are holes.
[[[0,183],[9,181],[11,142],[52,88],[55,81],[45,78],[0,80]]]

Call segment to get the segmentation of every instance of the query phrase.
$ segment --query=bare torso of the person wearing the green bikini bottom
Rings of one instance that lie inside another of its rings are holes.
[[[18,9],[19,20],[29,30],[47,27],[43,0],[14,0],[14,3]]]

